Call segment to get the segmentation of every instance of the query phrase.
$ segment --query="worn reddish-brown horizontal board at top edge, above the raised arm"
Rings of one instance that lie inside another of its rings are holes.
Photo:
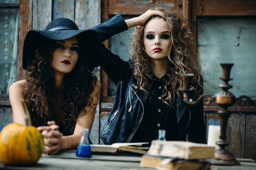
[[[176,9],[176,0],[109,0],[109,15],[140,15],[152,7]]]

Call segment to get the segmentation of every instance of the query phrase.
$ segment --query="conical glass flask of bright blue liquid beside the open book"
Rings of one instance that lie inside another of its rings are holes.
[[[77,157],[92,157],[92,151],[89,142],[89,129],[82,129],[82,135],[76,150]]]

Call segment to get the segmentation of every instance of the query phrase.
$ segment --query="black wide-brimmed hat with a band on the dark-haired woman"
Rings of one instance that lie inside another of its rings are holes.
[[[58,18],[50,22],[44,31],[30,30],[24,40],[22,53],[22,68],[26,69],[30,62],[34,60],[36,48],[40,41],[45,38],[51,40],[66,40],[72,37],[79,37],[79,43],[86,46],[89,68],[98,65],[99,48],[101,45],[99,34],[94,30],[79,30],[78,26],[68,18]],[[82,41],[82,42],[81,42]],[[81,57],[81,56],[79,56]]]

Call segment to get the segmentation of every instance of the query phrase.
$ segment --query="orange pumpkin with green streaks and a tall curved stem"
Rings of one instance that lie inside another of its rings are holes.
[[[34,126],[28,125],[29,113],[25,110],[25,125],[11,123],[0,132],[0,159],[8,165],[30,165],[40,159],[43,153],[43,137]]]

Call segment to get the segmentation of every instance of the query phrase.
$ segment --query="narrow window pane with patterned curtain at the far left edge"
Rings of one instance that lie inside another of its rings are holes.
[[[0,94],[17,80],[18,9],[0,9]]]

